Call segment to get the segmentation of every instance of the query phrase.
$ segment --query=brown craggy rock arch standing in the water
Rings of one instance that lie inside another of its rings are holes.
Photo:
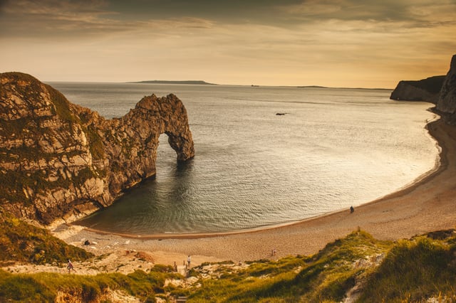
[[[111,120],[110,124],[110,132],[118,134],[115,139],[105,139],[105,146],[110,146],[107,150],[111,166],[125,168],[112,174],[110,191],[113,193],[155,175],[160,134],[167,134],[177,161],[195,156],[187,110],[175,95],[143,97],[135,109],[120,119]]]

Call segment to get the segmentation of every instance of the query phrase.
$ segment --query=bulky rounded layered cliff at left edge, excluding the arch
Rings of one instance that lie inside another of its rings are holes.
[[[0,100],[4,210],[50,223],[74,201],[99,195],[101,170],[90,154],[98,142],[87,137],[79,107],[23,73],[0,74]]]

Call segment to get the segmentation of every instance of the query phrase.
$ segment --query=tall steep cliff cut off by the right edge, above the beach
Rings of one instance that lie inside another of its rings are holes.
[[[456,113],[456,55],[453,55],[450,70],[440,91],[437,110],[453,115]]]

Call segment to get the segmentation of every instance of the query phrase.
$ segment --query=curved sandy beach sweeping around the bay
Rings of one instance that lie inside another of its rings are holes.
[[[361,228],[380,240],[410,238],[432,230],[456,227],[456,127],[441,119],[427,125],[441,148],[440,165],[401,191],[356,207],[289,225],[210,235],[135,237],[99,233],[77,225],[60,225],[53,233],[95,255],[145,252],[155,263],[192,265],[233,262],[286,255],[312,255],[327,243]],[[83,245],[85,240],[90,245]]]

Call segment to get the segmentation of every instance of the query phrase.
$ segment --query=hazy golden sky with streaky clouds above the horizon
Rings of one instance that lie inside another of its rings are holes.
[[[456,0],[0,0],[0,72],[394,88],[445,75]]]

